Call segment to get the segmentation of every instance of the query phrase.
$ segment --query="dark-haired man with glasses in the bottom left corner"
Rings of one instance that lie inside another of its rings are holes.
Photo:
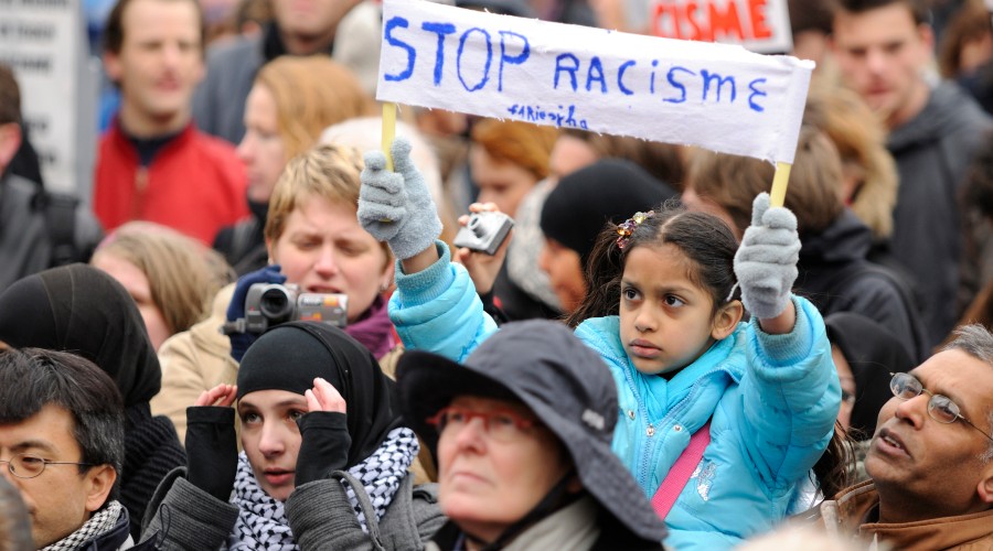
[[[36,549],[132,544],[114,499],[124,449],[122,401],[98,367],[67,353],[0,352],[0,476],[28,506]]]

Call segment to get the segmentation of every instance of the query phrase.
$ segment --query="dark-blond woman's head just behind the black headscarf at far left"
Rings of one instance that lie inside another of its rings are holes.
[[[214,294],[234,273],[196,239],[150,222],[130,222],[107,236],[89,261],[135,299],[152,346],[206,317]]]

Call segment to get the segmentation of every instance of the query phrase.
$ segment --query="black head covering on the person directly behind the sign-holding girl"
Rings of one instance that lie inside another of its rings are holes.
[[[585,266],[604,224],[621,224],[675,195],[633,162],[604,159],[563,176],[545,198],[542,231],[578,252]]]

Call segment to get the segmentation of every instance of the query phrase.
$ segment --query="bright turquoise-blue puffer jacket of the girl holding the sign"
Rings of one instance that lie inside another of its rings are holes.
[[[496,326],[440,241],[438,252],[438,262],[413,276],[397,264],[389,317],[407,348],[463,361]],[[677,550],[729,549],[770,529],[831,440],[841,404],[831,346],[816,309],[797,296],[793,304],[791,333],[739,324],[671,380],[634,369],[617,316],[576,329],[613,375],[620,406],[613,451],[647,496],[712,419],[711,444],[665,519],[665,543]]]

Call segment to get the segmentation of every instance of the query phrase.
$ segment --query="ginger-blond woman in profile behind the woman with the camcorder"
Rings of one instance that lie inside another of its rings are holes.
[[[284,56],[263,66],[245,104],[245,137],[237,148],[248,175],[252,217],[221,229],[214,239],[238,274],[267,263],[266,210],[286,163],[317,143],[324,128],[371,115],[373,108],[351,71],[327,55]]]

